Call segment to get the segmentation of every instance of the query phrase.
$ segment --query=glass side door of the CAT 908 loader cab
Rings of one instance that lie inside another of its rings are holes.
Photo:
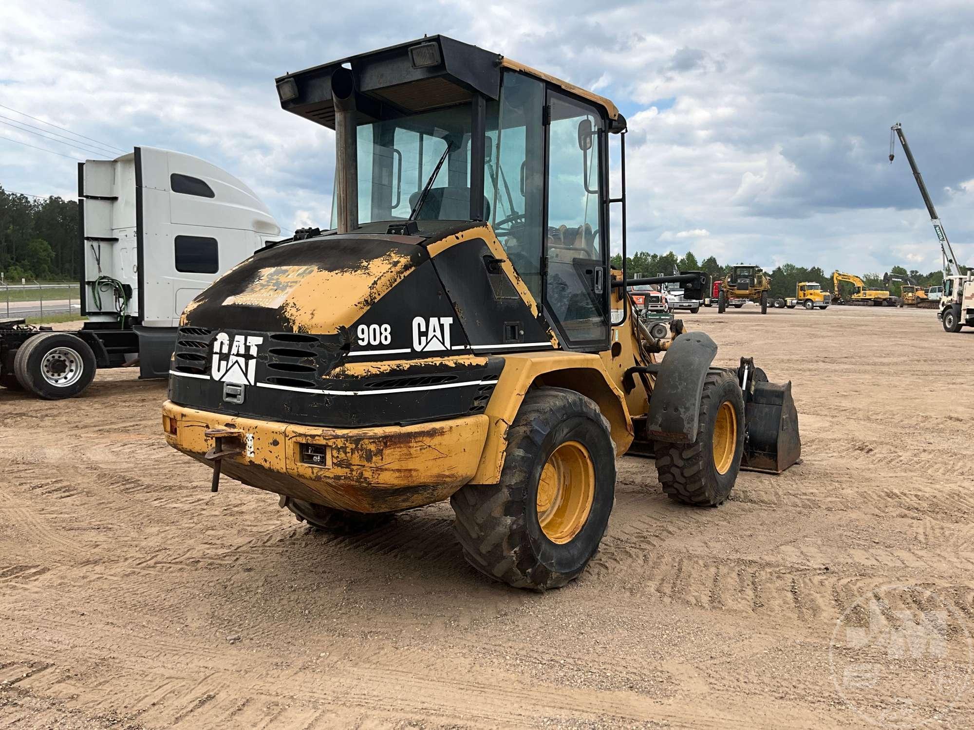
[[[596,107],[547,91],[544,309],[571,349],[609,347],[609,252],[603,206],[605,124]]]

